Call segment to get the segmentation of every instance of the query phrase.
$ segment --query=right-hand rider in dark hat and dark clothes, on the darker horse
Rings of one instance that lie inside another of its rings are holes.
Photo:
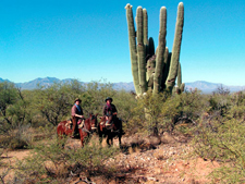
[[[112,125],[117,120],[118,110],[113,103],[111,97],[107,97],[105,100],[107,103],[103,106],[103,115],[106,116],[106,126]]]

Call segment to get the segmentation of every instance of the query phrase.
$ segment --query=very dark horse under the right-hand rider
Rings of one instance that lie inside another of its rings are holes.
[[[98,124],[98,133],[99,133],[99,140],[102,143],[102,137],[107,136],[107,144],[113,145],[113,138],[119,137],[119,146],[121,147],[121,138],[123,133],[122,130],[122,121],[118,118],[113,121],[112,127],[108,128],[106,127],[106,116],[100,116],[100,122]],[[110,143],[111,142],[111,143]]]

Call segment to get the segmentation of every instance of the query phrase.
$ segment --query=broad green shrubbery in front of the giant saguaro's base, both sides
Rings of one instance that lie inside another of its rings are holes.
[[[172,96],[149,93],[137,99],[137,106],[132,110],[134,118],[130,121],[131,130],[135,130],[133,126],[136,125],[148,134],[173,132],[177,124],[197,124],[208,108],[207,97],[198,90]],[[192,131],[189,126],[179,127],[184,134]]]

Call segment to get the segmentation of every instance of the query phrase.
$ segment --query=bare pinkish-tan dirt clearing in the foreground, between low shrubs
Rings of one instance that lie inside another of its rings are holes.
[[[73,146],[81,146],[79,140],[70,140]],[[123,139],[125,142],[125,139]],[[118,146],[115,140],[114,146]],[[130,149],[128,152],[119,154],[115,159],[110,159],[107,164],[117,164],[123,174],[117,179],[106,181],[101,177],[91,177],[96,184],[103,183],[208,183],[208,174],[219,167],[219,163],[205,161],[201,158],[187,158],[192,147],[187,143],[161,144],[155,149],[142,151]],[[16,159],[24,159],[29,150],[9,151],[1,157],[5,163],[14,164]],[[0,173],[7,168],[0,168]],[[5,179],[11,179],[13,171],[10,171]],[[123,179],[123,180],[122,180]],[[74,179],[73,184],[85,183]]]

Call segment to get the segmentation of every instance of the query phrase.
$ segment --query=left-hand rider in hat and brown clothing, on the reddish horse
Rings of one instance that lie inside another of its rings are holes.
[[[84,112],[83,109],[81,108],[81,102],[82,100],[79,98],[76,98],[74,101],[74,106],[72,107],[72,132],[73,132],[73,136],[75,136],[75,133],[77,132],[77,124],[83,123],[84,120]]]

